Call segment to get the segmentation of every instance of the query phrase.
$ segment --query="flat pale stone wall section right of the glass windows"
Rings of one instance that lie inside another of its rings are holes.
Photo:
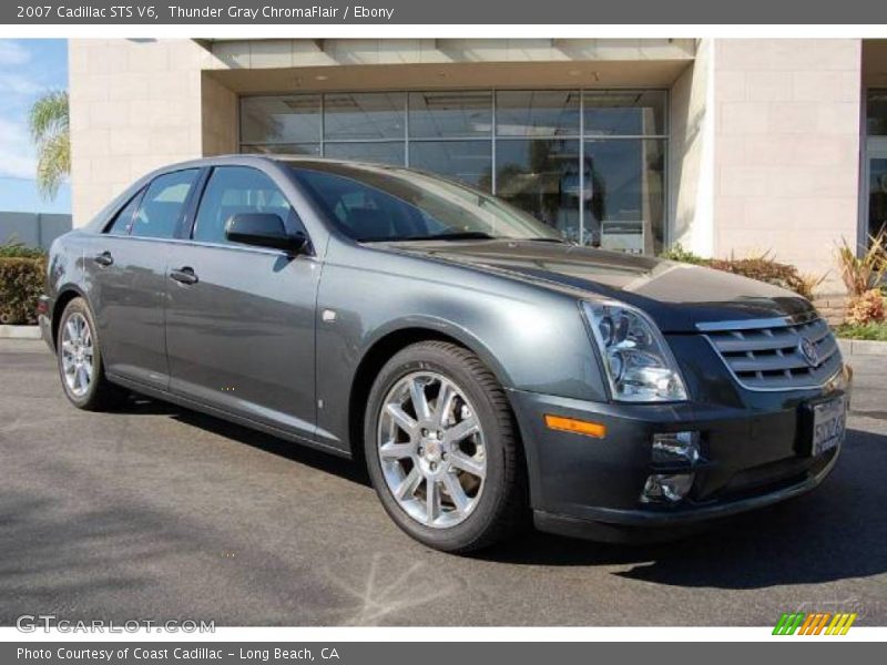
[[[861,41],[715,40],[714,253],[828,273],[857,237]]]

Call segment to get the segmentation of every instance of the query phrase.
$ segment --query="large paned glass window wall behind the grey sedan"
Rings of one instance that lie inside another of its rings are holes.
[[[241,150],[410,166],[510,201],[570,241],[662,249],[661,90],[335,92],[241,101]]]

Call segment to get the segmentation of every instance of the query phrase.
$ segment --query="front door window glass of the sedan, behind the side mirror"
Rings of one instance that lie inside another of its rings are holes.
[[[194,239],[226,243],[225,223],[238,213],[275,213],[294,231],[293,206],[267,175],[245,166],[223,166],[213,171],[203,193]]]

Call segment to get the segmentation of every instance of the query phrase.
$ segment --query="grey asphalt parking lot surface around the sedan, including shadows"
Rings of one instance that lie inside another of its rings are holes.
[[[530,533],[466,559],[387,518],[355,464],[169,405],[86,413],[42,342],[0,340],[0,624],[887,624],[887,357],[854,356],[823,485],[679,543]]]

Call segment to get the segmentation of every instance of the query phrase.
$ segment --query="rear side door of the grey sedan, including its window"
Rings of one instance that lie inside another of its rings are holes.
[[[154,388],[169,385],[166,259],[200,170],[155,177],[109,224],[86,257],[105,370]]]

